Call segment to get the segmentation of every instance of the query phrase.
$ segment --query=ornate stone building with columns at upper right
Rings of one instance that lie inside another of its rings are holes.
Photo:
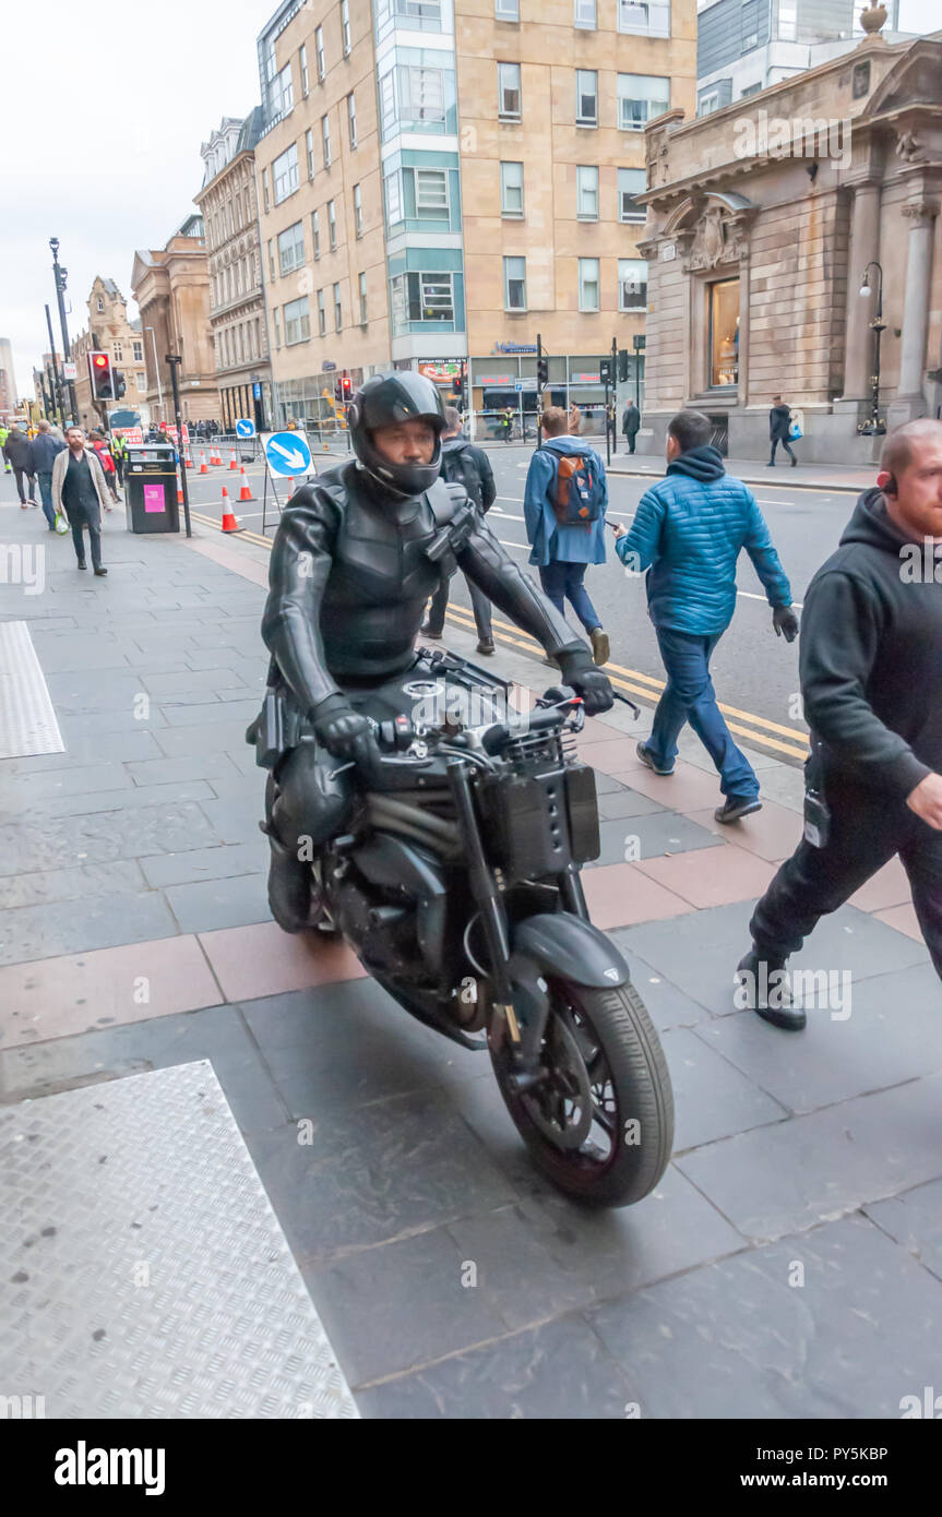
[[[869,463],[874,416],[942,414],[942,35],[890,46],[884,17],[865,11],[859,47],[819,68],[648,126],[655,451],[693,407],[724,451],[761,458],[775,394],[804,461]]]

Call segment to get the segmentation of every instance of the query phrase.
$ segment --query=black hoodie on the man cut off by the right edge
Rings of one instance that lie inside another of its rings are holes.
[[[928,564],[866,490],[801,622],[801,693],[825,769],[895,799],[942,772],[942,551]]]

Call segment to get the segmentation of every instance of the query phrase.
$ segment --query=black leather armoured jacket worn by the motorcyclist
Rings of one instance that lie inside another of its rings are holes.
[[[463,514],[464,502],[466,492],[441,479],[396,499],[355,461],[291,498],[272,548],[262,637],[276,664],[268,683],[281,674],[305,716],[344,684],[382,684],[410,667],[443,566],[460,564],[546,652],[586,651],[473,508],[454,557],[428,557],[440,523]]]

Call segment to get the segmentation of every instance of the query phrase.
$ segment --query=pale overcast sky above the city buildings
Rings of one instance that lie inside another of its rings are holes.
[[[14,344],[20,396],[49,349],[46,302],[59,344],[49,238],[68,269],[70,337],[88,323],[96,275],[130,302],[135,247],[162,247],[193,209],[200,143],[258,105],[255,39],[275,11],[276,0],[124,0],[106,20],[106,8],[36,0],[6,27],[0,337]],[[939,0],[901,0],[900,23],[937,27]]]

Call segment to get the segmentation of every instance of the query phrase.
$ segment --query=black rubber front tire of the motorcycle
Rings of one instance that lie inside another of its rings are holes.
[[[507,1044],[504,1039],[496,1044],[491,1033],[488,1048],[501,1095],[535,1164],[560,1191],[596,1206],[633,1206],[658,1183],[674,1148],[674,1089],[655,1027],[631,983],[596,989],[555,980],[549,991],[552,1009],[543,1057],[549,1054],[554,1016],[564,998],[579,1019],[576,1032],[598,1044],[610,1074],[616,1104],[610,1156],[596,1161],[581,1147],[564,1147],[578,1136],[566,1135],[564,1129],[561,1142],[551,1141],[537,1094],[520,1094],[510,1085]],[[572,1045],[569,1033],[566,1047]]]

